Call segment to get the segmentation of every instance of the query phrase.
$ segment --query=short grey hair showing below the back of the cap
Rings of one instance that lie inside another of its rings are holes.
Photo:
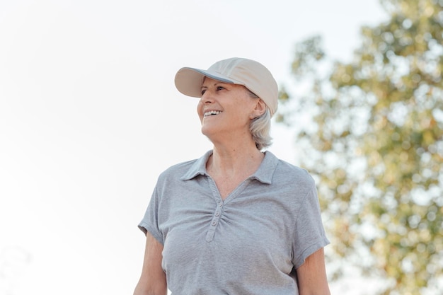
[[[248,92],[251,97],[260,99],[249,89]],[[272,137],[270,136],[271,112],[267,105],[263,115],[261,115],[260,117],[256,117],[251,121],[251,125],[249,125],[249,131],[251,132],[252,138],[255,141],[255,146],[257,146],[257,149],[259,149],[260,151],[272,144]]]

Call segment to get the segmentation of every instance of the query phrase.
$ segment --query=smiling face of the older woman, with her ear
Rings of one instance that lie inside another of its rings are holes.
[[[251,120],[264,111],[263,100],[253,98],[244,86],[209,78],[203,81],[197,112],[202,122],[202,133],[209,139],[214,136],[251,135]]]

